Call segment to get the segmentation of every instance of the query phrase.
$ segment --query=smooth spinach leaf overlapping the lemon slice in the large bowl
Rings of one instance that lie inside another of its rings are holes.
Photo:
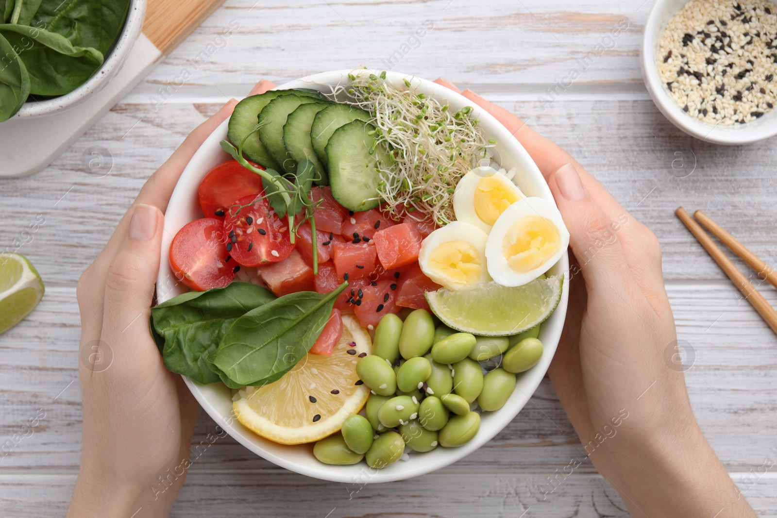
[[[326,295],[312,291],[284,295],[242,315],[221,339],[214,364],[236,384],[280,379],[308,353],[347,286],[342,283]]]

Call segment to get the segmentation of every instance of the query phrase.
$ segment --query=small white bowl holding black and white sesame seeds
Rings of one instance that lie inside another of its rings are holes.
[[[660,40],[664,29],[672,16],[686,3],[687,0],[657,0],[645,24],[642,40],[642,75],[653,103],[656,103],[658,110],[664,113],[671,123],[702,141],[733,145],[749,144],[773,137],[777,134],[777,111],[775,110],[765,113],[764,116],[752,122],[713,126],[689,116],[669,96],[658,74],[656,59],[660,52]]]

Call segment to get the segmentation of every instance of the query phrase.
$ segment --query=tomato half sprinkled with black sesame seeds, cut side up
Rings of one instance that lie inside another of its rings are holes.
[[[280,262],[294,250],[287,219],[277,217],[275,211],[269,209],[267,199],[258,199],[255,194],[232,203],[224,230],[228,252],[243,266]]]

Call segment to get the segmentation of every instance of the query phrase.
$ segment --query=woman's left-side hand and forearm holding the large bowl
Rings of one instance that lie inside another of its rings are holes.
[[[262,81],[251,94],[271,88]],[[148,179],[78,280],[83,446],[68,516],[167,516],[186,478],[197,402],[163,365],[148,318],[172,189],[236,103],[193,130]]]

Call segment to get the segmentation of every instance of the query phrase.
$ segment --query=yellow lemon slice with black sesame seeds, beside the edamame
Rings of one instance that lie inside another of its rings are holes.
[[[354,342],[356,346],[349,345]],[[332,435],[367,402],[370,391],[367,385],[356,384],[356,363],[370,348],[370,335],[354,315],[343,315],[343,337],[332,356],[306,354],[280,380],[240,389],[240,398],[232,404],[235,415],[254,433],[276,443],[312,443]],[[348,354],[349,349],[356,353]]]

